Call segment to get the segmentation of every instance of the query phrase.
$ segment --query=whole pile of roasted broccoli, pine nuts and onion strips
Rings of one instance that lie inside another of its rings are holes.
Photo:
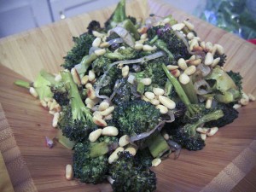
[[[189,20],[137,20],[121,0],[104,27],[92,20],[73,41],[61,72],[15,82],[49,108],[58,141],[73,149],[67,179],[154,191],[150,166],[201,150],[254,100],[239,73],[224,71],[224,48],[201,41]]]

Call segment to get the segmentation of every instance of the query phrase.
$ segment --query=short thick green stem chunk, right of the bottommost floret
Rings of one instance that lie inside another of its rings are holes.
[[[147,145],[154,158],[161,157],[170,150],[168,143],[166,143],[166,140],[160,135],[159,131],[155,132],[152,137],[148,138]]]

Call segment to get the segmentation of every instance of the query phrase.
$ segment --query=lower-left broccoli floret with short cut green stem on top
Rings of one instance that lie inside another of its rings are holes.
[[[84,183],[102,183],[108,173],[108,152],[116,146],[117,139],[102,137],[98,142],[77,143],[74,146],[74,177]]]

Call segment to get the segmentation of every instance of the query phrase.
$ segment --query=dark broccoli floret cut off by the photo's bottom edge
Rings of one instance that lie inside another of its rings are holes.
[[[156,177],[148,167],[137,165],[129,152],[119,153],[110,166],[113,192],[150,192],[156,189]]]

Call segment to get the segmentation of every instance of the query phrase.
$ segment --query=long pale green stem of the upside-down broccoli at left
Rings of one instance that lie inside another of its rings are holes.
[[[69,71],[62,71],[61,77],[65,83],[68,90],[68,96],[71,100],[73,119],[83,119],[92,122],[90,109],[85,107],[79,94],[78,86],[74,83],[71,73]]]

